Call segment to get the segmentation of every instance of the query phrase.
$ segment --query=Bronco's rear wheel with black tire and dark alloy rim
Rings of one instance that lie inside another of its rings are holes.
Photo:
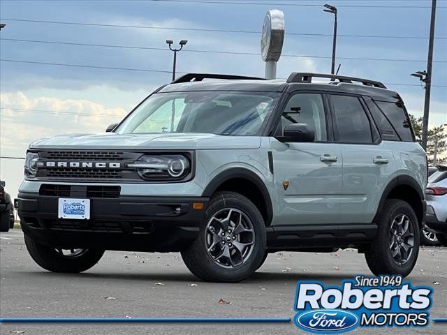
[[[365,253],[369,269],[376,276],[408,276],[419,254],[420,231],[416,214],[407,202],[386,200],[377,224],[376,239]]]

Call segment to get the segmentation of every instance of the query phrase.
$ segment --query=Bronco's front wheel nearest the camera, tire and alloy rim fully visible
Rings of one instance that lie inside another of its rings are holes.
[[[261,266],[265,224],[258,208],[234,192],[213,195],[198,237],[182,251],[186,267],[203,281],[242,281]]]

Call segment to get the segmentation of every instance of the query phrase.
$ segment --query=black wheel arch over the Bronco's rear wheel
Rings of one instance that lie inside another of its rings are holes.
[[[393,178],[382,193],[374,221],[381,213],[387,199],[400,199],[408,202],[413,207],[418,217],[420,228],[422,228],[425,216],[425,196],[416,179],[406,175]]]

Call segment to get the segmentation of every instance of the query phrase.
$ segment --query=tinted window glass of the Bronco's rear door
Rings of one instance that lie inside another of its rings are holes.
[[[362,104],[355,96],[331,95],[335,140],[342,143],[372,143],[371,126]]]

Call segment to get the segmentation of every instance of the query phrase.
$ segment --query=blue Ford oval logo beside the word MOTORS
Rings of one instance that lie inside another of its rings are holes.
[[[316,334],[341,333],[358,327],[358,317],[340,309],[316,309],[298,314],[295,325]]]

